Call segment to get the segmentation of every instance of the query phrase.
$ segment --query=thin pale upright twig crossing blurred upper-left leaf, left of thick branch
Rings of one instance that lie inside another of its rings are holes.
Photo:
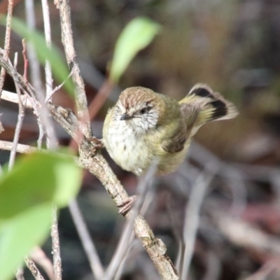
[[[44,22],[44,29],[45,29],[45,43],[47,44],[48,48],[52,46],[52,38],[50,33],[50,11],[48,8],[48,1],[41,0],[42,8],[43,8],[43,22]],[[48,99],[49,102],[52,101],[52,68],[50,66],[50,62],[48,60],[45,61],[45,89],[46,94],[45,98]]]

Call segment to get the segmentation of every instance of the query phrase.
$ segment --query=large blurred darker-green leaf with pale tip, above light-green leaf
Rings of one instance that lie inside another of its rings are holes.
[[[44,202],[65,207],[80,187],[81,171],[68,155],[32,153],[0,177],[0,222]]]

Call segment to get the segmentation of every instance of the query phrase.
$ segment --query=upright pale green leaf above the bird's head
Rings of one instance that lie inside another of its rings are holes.
[[[109,78],[118,83],[128,64],[139,50],[146,48],[160,31],[158,23],[148,18],[135,18],[123,29],[116,43]]]

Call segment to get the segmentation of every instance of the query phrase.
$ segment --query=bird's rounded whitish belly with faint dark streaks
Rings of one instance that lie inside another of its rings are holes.
[[[133,131],[109,130],[104,142],[111,158],[123,169],[141,175],[150,166],[149,145]]]

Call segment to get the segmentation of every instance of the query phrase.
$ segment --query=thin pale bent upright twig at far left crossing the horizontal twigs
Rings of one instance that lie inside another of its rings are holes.
[[[13,168],[13,164],[15,162],[15,154],[18,145],[18,140],[20,139],[20,130],[22,129],[23,119],[25,118],[25,106],[22,104],[20,86],[18,85],[18,72],[16,71],[16,66],[18,64],[18,53],[15,53],[15,66],[13,68],[13,80],[15,82],[15,89],[18,94],[18,122],[15,126],[15,134],[13,137],[13,147],[10,150],[10,160],[8,162],[8,169]]]

